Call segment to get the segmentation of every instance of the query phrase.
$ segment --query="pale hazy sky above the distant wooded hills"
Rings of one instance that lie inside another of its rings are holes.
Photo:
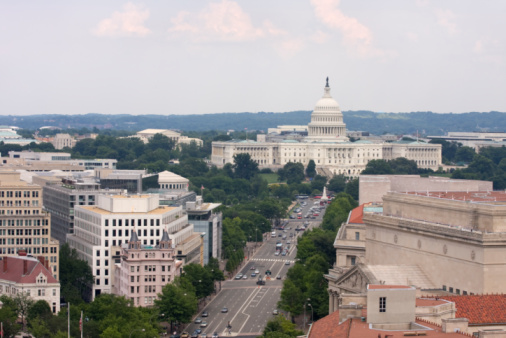
[[[506,112],[504,17],[504,0],[3,0],[0,114],[312,110],[327,76],[343,111]]]

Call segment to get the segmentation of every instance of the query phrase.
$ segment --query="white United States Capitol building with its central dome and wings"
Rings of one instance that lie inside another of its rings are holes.
[[[273,132],[274,131],[274,132]],[[213,142],[212,164],[234,163],[234,155],[248,153],[259,168],[279,169],[289,162],[307,166],[314,160],[319,174],[358,176],[371,160],[405,157],[419,168],[437,170],[441,165],[441,145],[421,141],[356,141],[346,137],[346,124],[339,104],[324,88],[307,126],[280,126],[258,135],[257,140]]]

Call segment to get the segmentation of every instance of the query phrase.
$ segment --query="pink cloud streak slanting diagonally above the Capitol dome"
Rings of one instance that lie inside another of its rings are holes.
[[[339,0],[311,0],[316,17],[327,27],[339,30],[347,49],[361,57],[381,56],[384,53],[372,46],[372,33],[356,18],[346,16],[339,9]]]

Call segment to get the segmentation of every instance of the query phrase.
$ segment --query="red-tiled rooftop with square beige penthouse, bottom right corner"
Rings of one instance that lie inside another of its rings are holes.
[[[472,307],[474,299],[481,297],[477,309],[466,309],[455,316],[455,303],[441,298],[416,298],[415,289],[406,285],[369,285],[367,294],[348,295],[337,311],[313,323],[309,338],[399,338],[407,336],[426,337],[487,337],[504,338],[506,328],[501,325],[472,326],[473,321],[500,324],[506,316],[504,295],[455,296],[458,304]],[[360,298],[363,298],[362,300]],[[367,306],[365,306],[367,304]],[[478,314],[478,312],[486,314]],[[501,312],[495,316],[487,315]],[[416,313],[416,318],[415,318]],[[469,314],[470,319],[460,317]],[[436,319],[437,317],[437,319]],[[474,334],[474,335],[473,335]]]

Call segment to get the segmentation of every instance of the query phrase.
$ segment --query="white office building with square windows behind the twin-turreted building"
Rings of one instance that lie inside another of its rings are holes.
[[[160,206],[158,195],[99,195],[94,206],[76,206],[70,247],[88,262],[95,275],[93,297],[111,293],[113,247],[128,243],[136,230],[142,245],[156,246],[163,230],[171,236],[178,259],[199,260],[201,238],[182,207]]]

